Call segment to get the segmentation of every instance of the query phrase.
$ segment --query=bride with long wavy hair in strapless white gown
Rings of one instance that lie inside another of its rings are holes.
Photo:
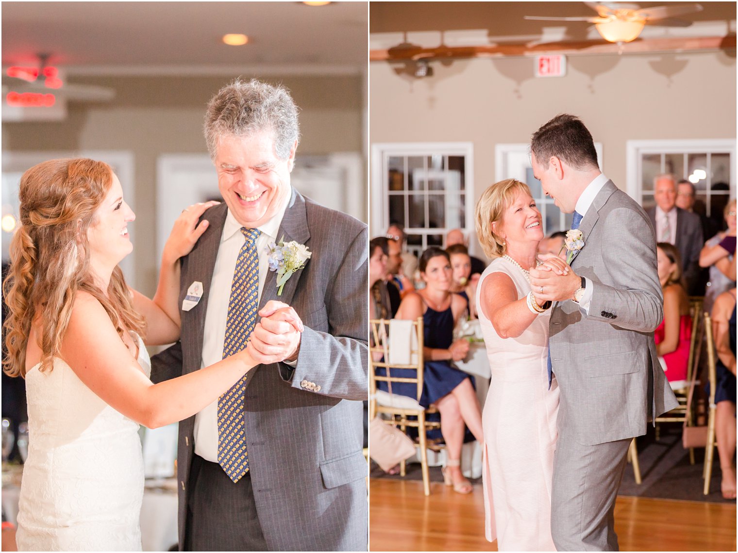
[[[18,549],[140,550],[139,424],[190,417],[255,366],[249,345],[180,378],[148,378],[144,344],[179,338],[179,257],[205,232],[207,221],[197,221],[217,202],[182,212],[151,300],[128,288],[117,266],[133,250],[135,215],[111,167],[44,161],[24,173],[18,195],[21,226],[4,285],[4,369],[26,379],[30,428]],[[301,326],[294,313],[286,320]]]

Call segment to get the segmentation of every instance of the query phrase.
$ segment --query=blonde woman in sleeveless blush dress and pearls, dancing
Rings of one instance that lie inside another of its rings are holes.
[[[528,187],[508,179],[486,189],[477,237],[492,263],[477,286],[477,311],[492,380],[484,404],[486,538],[500,551],[554,551],[551,476],[559,388],[548,388],[550,311],[531,293],[541,214]],[[547,261],[563,273],[562,260]],[[541,265],[542,266],[542,265]]]

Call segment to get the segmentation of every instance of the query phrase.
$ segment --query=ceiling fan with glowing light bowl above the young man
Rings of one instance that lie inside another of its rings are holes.
[[[645,25],[663,27],[689,27],[692,22],[676,19],[676,15],[702,11],[700,4],[677,4],[641,8],[638,4],[623,2],[584,2],[597,12],[597,15],[584,17],[547,17],[525,15],[525,19],[535,21],[587,21],[595,24],[599,34],[609,42],[635,41]]]

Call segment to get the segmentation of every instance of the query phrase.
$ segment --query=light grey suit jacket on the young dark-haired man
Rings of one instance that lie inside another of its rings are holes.
[[[557,302],[549,348],[559,383],[559,426],[596,445],[640,436],[646,422],[677,406],[656,355],[663,319],[656,241],[646,213],[613,181],[600,190],[571,261],[593,285],[589,314]]]

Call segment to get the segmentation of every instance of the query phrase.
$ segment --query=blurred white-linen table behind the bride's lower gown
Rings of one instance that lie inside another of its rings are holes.
[[[21,488],[17,482],[5,484],[5,475],[3,481],[2,508],[7,520],[16,524]],[[140,524],[143,551],[169,551],[179,541],[176,479],[146,482]]]

